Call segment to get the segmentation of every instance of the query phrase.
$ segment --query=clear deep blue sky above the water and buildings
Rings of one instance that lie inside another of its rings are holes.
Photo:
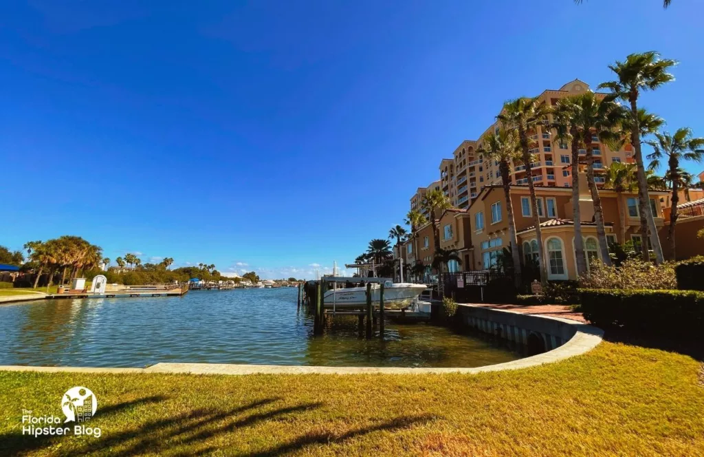
[[[704,136],[704,5],[661,3],[6,2],[0,244],[310,278],[385,238],[506,99],[634,51],[681,61],[641,104]]]

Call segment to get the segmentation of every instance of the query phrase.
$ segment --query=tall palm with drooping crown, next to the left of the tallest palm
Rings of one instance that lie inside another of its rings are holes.
[[[612,100],[600,100],[593,92],[586,92],[582,95],[572,97],[577,110],[574,111],[575,123],[582,133],[581,142],[586,150],[586,181],[589,185],[591,200],[594,205],[594,221],[596,222],[596,238],[598,239],[599,250],[602,261],[611,266],[608,242],[606,240],[606,229],[604,224],[603,207],[601,197],[594,180],[594,154],[592,136],[596,133],[602,142],[614,142],[619,140],[622,118],[625,111]]]

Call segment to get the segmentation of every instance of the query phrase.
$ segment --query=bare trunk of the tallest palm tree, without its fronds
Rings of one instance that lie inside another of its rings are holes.
[[[662,247],[660,246],[660,238],[658,238],[658,229],[655,227],[653,212],[650,211],[650,204],[648,202],[648,180],[646,178],[646,166],[643,163],[643,153],[641,152],[641,133],[638,125],[638,106],[636,105],[637,98],[638,93],[631,92],[631,118],[633,120],[631,122],[631,144],[634,149],[636,176],[638,177],[638,209],[641,217],[641,239],[643,240],[641,248],[643,250],[643,260],[649,262],[650,254],[648,253],[648,243],[646,240],[650,238],[650,246],[653,247],[653,252],[655,252],[655,263],[661,264],[664,260],[664,257],[662,257]],[[650,230],[649,237],[648,230]]]

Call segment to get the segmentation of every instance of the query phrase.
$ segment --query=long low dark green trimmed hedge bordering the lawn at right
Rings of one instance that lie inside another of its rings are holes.
[[[597,327],[623,327],[667,336],[701,336],[704,293],[579,289],[584,317]]]

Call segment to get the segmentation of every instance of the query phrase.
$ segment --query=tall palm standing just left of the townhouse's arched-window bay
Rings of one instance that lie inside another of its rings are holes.
[[[521,257],[518,251],[516,223],[513,219],[513,203],[511,202],[510,196],[510,166],[513,162],[520,162],[522,155],[516,131],[499,128],[498,133],[493,133],[484,138],[484,142],[482,142],[478,152],[483,154],[485,159],[489,159],[489,162],[498,162],[498,170],[501,173],[501,184],[503,185],[503,196],[506,202],[506,214],[508,215],[508,236],[510,238],[509,242],[513,255],[513,279],[516,287],[518,287],[521,281]]]

